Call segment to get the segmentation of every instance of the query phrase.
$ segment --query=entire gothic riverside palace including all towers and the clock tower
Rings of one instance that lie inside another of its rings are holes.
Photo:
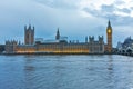
[[[16,40],[6,41],[4,53],[50,53],[50,55],[92,55],[92,53],[111,53],[112,52],[112,27],[109,20],[106,27],[106,43],[103,36],[95,40],[94,37],[85,37],[84,42],[68,41],[66,37],[61,37],[60,30],[57,30],[54,40],[43,40],[34,38],[34,27],[24,27],[24,43]]]

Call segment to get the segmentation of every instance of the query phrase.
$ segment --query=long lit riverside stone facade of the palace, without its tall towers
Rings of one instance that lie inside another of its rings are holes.
[[[103,37],[95,41],[94,37],[89,42],[52,42],[35,44],[6,44],[7,53],[104,53]],[[14,48],[9,50],[10,48]]]

